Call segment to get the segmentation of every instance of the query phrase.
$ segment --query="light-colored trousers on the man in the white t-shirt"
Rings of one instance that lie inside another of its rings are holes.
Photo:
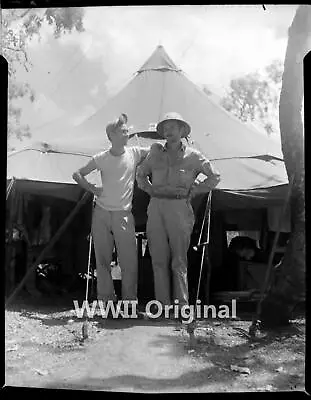
[[[135,223],[131,211],[107,211],[96,205],[92,217],[97,298],[116,300],[111,277],[114,244],[122,275],[122,300],[137,300],[137,247]]]

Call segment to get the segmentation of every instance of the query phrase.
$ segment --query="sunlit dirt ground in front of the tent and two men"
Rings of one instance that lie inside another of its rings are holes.
[[[239,315],[239,308],[237,308]],[[20,298],[5,311],[5,386],[113,392],[305,390],[305,320],[249,340],[250,318],[82,320],[72,300]],[[238,368],[237,368],[238,367]],[[240,369],[241,367],[242,369]],[[244,369],[243,369],[244,368]]]

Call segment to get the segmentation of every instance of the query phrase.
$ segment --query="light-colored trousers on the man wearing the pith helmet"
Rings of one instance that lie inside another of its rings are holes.
[[[194,225],[192,206],[186,199],[151,198],[148,206],[149,243],[156,300],[163,305],[188,304],[187,251]],[[172,272],[173,293],[170,290]]]

